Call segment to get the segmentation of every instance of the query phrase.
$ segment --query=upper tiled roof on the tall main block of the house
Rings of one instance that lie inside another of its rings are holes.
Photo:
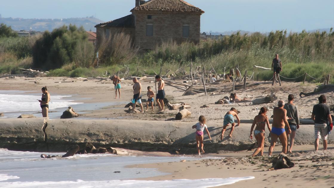
[[[139,5],[132,11],[165,11],[165,12],[197,12],[203,14],[204,11],[183,0],[150,0]]]

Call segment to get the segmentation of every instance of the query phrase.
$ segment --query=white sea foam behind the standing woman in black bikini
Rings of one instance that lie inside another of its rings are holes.
[[[49,102],[49,110],[57,108],[68,107],[80,103],[72,102],[71,96],[52,95]],[[12,94],[0,94],[0,109],[1,112],[24,112],[24,111],[40,111],[39,102],[41,95],[12,95]]]

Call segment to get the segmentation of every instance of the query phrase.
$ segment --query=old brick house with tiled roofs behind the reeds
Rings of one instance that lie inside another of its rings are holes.
[[[153,49],[162,41],[199,43],[203,10],[183,0],[135,0],[132,14],[96,25],[98,43],[117,32],[131,35],[135,46]]]

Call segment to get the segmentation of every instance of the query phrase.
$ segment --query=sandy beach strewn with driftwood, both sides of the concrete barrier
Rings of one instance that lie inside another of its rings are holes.
[[[158,120],[166,121],[174,118],[178,110],[166,110],[159,113],[157,107],[154,112],[142,114],[128,114],[124,112],[125,104],[129,103],[132,93],[132,80],[122,80],[121,99],[114,99],[114,86],[111,80],[68,78],[68,77],[16,77],[16,78],[0,78],[0,90],[22,90],[39,92],[41,87],[47,86],[51,95],[71,95],[75,97],[75,102],[82,103],[118,103],[117,105],[107,105],[98,110],[87,110],[81,117],[91,119],[129,119],[129,120]],[[153,79],[142,79],[143,99],[146,99],[146,87],[151,86],[154,90]],[[183,90],[173,86],[166,85],[166,96],[171,103],[183,102],[190,106],[188,109],[192,114],[190,118],[181,120],[189,122],[189,126],[197,123],[198,117],[204,115],[207,118],[207,125],[210,123],[222,123],[224,114],[231,108],[235,107],[241,113],[240,119],[250,120],[259,113],[263,106],[269,108],[267,116],[272,116],[273,107],[277,102],[263,105],[252,105],[248,103],[236,103],[215,105],[219,99],[229,96],[231,91],[230,82],[221,82],[219,84],[211,84],[219,90],[208,92],[208,96],[204,94],[182,96]],[[282,82],[282,86],[271,82],[261,82],[246,89],[238,89],[235,92],[241,98],[247,97],[250,100],[276,93],[279,99],[287,102],[288,94],[295,95],[295,104],[298,106],[299,116],[303,119],[311,117],[313,105],[318,103],[317,97],[320,93],[326,95],[327,104],[332,105],[334,100],[334,88],[320,91],[316,95],[300,98],[300,92],[312,92],[319,84],[316,83],[300,83],[300,82]],[[38,104],[36,104],[38,105]],[[208,108],[200,108],[203,105]],[[139,108],[138,108],[139,109]],[[75,109],[74,109],[75,110]],[[52,113],[52,112],[51,112]],[[159,125],[157,125],[159,126]],[[242,124],[240,126],[243,126]],[[247,125],[249,126],[249,125]],[[303,127],[301,126],[301,129]],[[238,129],[238,128],[236,128]],[[246,132],[244,134],[249,134]],[[311,135],[314,133],[310,133]],[[334,145],[329,145],[329,150],[318,152],[313,151],[314,146],[309,145],[294,146],[294,153],[289,155],[295,162],[295,167],[290,169],[273,170],[271,168],[271,160],[268,157],[247,158],[252,151],[240,152],[219,152],[219,154],[205,154],[203,156],[218,157],[217,159],[200,159],[198,161],[172,162],[172,163],[155,163],[144,165],[133,165],[132,167],[158,168],[160,171],[168,172],[170,175],[145,178],[145,180],[172,180],[172,179],[203,179],[203,178],[227,178],[227,177],[246,177],[254,176],[255,179],[244,180],[227,187],[332,187],[334,184],[332,173],[334,171]],[[205,146],[204,146],[205,147]],[[204,148],[205,149],[205,148]],[[320,144],[322,149],[322,144]],[[275,154],[278,154],[281,146],[277,145]],[[268,148],[265,148],[264,156],[267,156]],[[145,154],[144,154],[145,155]],[[168,154],[167,154],[168,155]],[[224,158],[224,159],[223,159]],[[180,159],[181,160],[181,159]],[[223,186],[223,187],[225,187]]]

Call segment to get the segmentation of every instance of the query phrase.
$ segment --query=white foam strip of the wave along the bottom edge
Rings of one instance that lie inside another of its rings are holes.
[[[242,178],[210,178],[210,179],[178,179],[178,180],[165,180],[165,181],[144,181],[144,180],[110,180],[110,181],[46,181],[46,182],[0,182],[0,187],[7,188],[29,188],[29,187],[115,187],[115,188],[132,188],[132,187],[196,187],[206,188],[215,187],[221,185],[233,184],[242,180],[254,179],[255,177],[242,177]]]

